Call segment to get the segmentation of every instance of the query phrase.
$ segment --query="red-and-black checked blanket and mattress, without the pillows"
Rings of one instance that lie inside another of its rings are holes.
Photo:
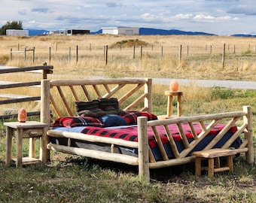
[[[178,151],[181,152],[184,150],[184,144],[182,142],[181,136],[179,135],[178,132],[178,127],[175,124],[170,124],[168,126],[172,137],[175,140],[175,144],[178,148]],[[192,133],[190,132],[190,126],[187,123],[182,124],[182,128],[184,129],[184,133],[188,138],[188,141],[191,142],[194,140]],[[215,126],[214,129],[209,133],[209,135],[206,136],[206,138],[203,138],[203,140],[198,144],[196,147],[194,147],[194,150],[192,150],[187,156],[190,156],[191,153],[197,150],[203,150],[204,147],[206,147],[207,144],[209,144],[210,141],[212,141],[213,138],[215,138],[215,135],[218,134],[218,132],[221,131],[221,129],[224,128],[224,125],[218,124]],[[65,127],[65,126],[56,126],[54,128],[55,130],[60,130],[60,131],[66,131],[66,132],[79,132],[86,134],[84,136],[102,136],[102,137],[107,137],[107,138],[117,138],[117,139],[123,139],[126,141],[138,141],[138,126],[133,125],[133,126],[114,126],[114,127],[98,127],[98,126],[76,126],[76,127]],[[194,129],[197,132],[197,135],[202,132],[200,125],[199,124],[194,124]],[[234,132],[236,132],[237,128],[236,126],[233,126],[229,132],[227,132],[224,137],[219,141],[217,144],[215,144],[214,148],[220,148],[223,146],[223,144],[226,143],[226,141],[233,135]],[[163,126],[157,126],[157,132],[160,134],[160,138],[163,142],[163,147],[165,147],[167,156],[169,159],[173,159],[174,154],[172,153],[171,146],[169,144],[169,139],[166,136],[166,131],[163,128]],[[58,141],[56,141],[56,139]],[[59,143],[63,144],[63,139],[64,143],[67,143],[66,138],[51,138],[51,141],[53,143]],[[84,141],[75,141],[73,144],[73,147],[83,147]],[[157,145],[157,141],[154,138],[154,132],[151,129],[151,127],[148,127],[148,144],[151,147],[152,153],[154,155],[154,159],[156,160],[162,160],[162,156],[160,154],[159,147]],[[231,147],[238,148],[239,145],[242,144],[242,141],[240,138],[237,138],[236,141],[231,144]],[[123,147],[122,147],[123,150]],[[126,150],[132,151],[135,153],[135,155],[138,153],[136,149],[130,149],[127,148]]]

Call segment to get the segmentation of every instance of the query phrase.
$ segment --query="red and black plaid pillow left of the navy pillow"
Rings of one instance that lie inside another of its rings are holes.
[[[104,127],[104,123],[94,117],[60,117],[55,120],[53,126],[64,126],[68,128],[75,126]]]

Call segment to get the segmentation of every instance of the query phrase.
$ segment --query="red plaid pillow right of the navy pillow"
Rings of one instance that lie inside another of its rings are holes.
[[[157,120],[157,116],[146,111],[127,111],[120,114],[120,117],[126,120],[128,125],[136,125],[137,117],[148,117],[148,120]]]

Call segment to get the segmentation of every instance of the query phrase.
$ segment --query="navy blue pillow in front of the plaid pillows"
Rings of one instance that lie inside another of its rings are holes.
[[[123,117],[118,116],[117,114],[106,114],[102,117],[99,117],[99,120],[104,123],[105,127],[111,126],[126,126],[127,122]]]

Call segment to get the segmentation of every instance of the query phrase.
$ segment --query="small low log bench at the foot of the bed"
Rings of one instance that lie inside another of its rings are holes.
[[[233,155],[236,154],[235,150],[228,149],[211,149],[202,150],[192,153],[192,156],[196,156],[195,169],[196,175],[200,176],[203,170],[208,171],[209,177],[214,177],[215,172],[230,171],[233,173]],[[227,156],[227,166],[220,166],[220,157]],[[208,159],[208,167],[201,166],[202,158]]]

